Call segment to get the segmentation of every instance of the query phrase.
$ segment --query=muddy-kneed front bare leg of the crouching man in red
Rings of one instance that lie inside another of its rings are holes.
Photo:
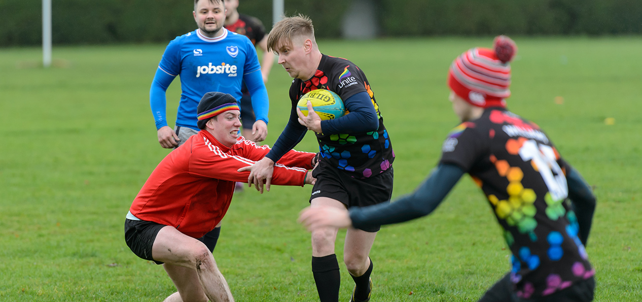
[[[170,271],[172,273],[175,272],[170,265],[195,270],[202,290],[210,301],[234,301],[227,281],[225,281],[221,272],[218,271],[218,267],[216,267],[214,256],[212,256],[205,244],[195,238],[180,233],[174,227],[163,227],[160,229],[152,246],[152,256],[154,260],[169,264],[166,267],[168,274],[170,274]],[[175,276],[179,277],[181,272],[187,274],[186,271],[178,271]],[[174,280],[174,276],[171,274],[170,278]],[[176,281],[175,285],[177,285],[179,293],[182,294],[182,290],[189,290],[178,288],[178,284],[182,284],[182,282],[179,281],[177,283]],[[172,298],[172,296],[169,296],[169,298]],[[195,294],[195,296],[198,297],[200,295]]]

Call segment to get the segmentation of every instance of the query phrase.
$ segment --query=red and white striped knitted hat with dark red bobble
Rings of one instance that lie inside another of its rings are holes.
[[[510,96],[510,60],[517,53],[513,40],[495,37],[493,49],[473,48],[457,57],[448,72],[448,85],[477,107],[506,107]]]

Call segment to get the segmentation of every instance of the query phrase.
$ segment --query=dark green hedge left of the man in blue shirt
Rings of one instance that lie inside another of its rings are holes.
[[[0,45],[40,43],[41,3],[0,1]],[[52,39],[55,44],[169,40],[194,30],[192,11],[191,1],[52,0]]]

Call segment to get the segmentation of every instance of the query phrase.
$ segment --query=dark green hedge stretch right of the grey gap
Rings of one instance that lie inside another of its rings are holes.
[[[379,0],[383,35],[642,33],[639,0]]]

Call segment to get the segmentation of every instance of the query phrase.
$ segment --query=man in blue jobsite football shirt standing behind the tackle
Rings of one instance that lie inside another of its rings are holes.
[[[256,114],[252,127],[254,137],[249,139],[263,141],[267,135],[268,93],[256,49],[247,37],[223,28],[223,0],[195,0],[193,15],[198,29],[169,42],[150,89],[160,145],[176,148],[198,132],[196,105],[205,93],[219,91],[241,100],[243,81],[252,95]],[[171,129],[166,120],[165,93],[177,75],[180,75],[182,93],[176,126]]]

